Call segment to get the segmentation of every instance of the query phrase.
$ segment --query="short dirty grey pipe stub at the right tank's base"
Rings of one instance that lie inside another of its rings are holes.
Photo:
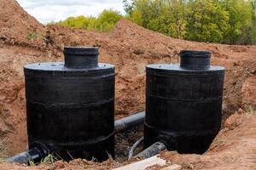
[[[143,150],[142,152],[138,153],[136,157],[140,157],[143,159],[152,157],[152,156],[156,156],[160,153],[160,151],[166,150],[166,144],[163,144],[161,142],[156,142],[154,144],[152,144],[151,146],[149,146],[146,150]]]

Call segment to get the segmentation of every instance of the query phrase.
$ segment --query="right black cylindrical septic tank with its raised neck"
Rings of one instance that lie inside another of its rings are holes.
[[[207,51],[180,53],[180,65],[148,65],[145,147],[204,153],[221,126],[224,68]]]

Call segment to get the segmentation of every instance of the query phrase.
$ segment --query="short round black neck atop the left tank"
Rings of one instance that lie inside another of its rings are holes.
[[[65,67],[72,69],[90,69],[98,66],[99,48],[65,47]]]

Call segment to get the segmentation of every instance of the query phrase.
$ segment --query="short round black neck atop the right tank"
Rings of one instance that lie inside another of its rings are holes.
[[[207,70],[211,66],[209,51],[182,50],[180,67],[189,70]]]

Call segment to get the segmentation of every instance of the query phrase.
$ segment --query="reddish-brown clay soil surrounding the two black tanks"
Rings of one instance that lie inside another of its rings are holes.
[[[100,61],[116,65],[116,119],[144,110],[145,65],[177,63],[182,49],[211,51],[212,65],[226,68],[223,130],[202,156],[167,151],[161,156],[182,165],[183,169],[256,169],[256,46],[173,39],[128,20],[119,20],[108,33],[43,26],[16,1],[0,0],[0,139],[4,139],[8,156],[27,149],[23,65],[63,60],[64,46],[99,47]],[[103,163],[57,161],[38,167],[0,164],[1,169],[119,166],[111,160]]]

